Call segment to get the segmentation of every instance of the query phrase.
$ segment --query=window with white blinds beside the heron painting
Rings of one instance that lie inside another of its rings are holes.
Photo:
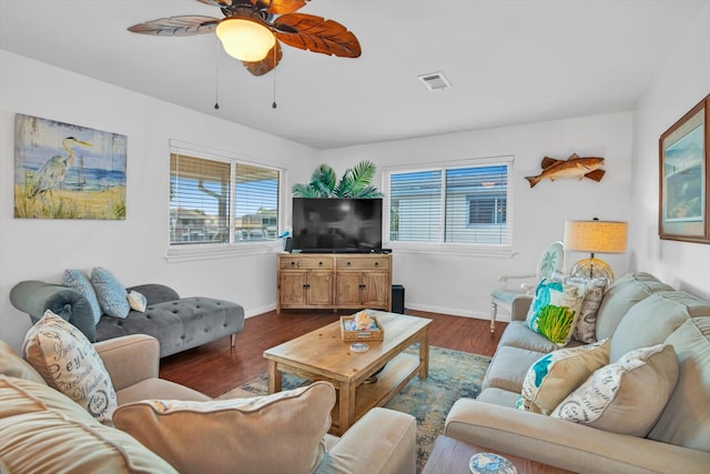
[[[278,236],[278,170],[170,155],[170,244],[240,244]]]

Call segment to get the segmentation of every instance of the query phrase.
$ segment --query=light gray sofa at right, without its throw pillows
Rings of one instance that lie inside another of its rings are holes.
[[[637,437],[516,409],[528,367],[558,349],[525,324],[530,301],[515,300],[481,393],[455,403],[447,436],[574,472],[710,472],[710,302],[648,273],[625,275],[605,292],[596,335],[610,339],[610,362],[659,343],[678,356],[670,400],[648,435]]]

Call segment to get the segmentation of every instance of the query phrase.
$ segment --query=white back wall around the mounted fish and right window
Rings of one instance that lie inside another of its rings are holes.
[[[342,173],[361,160],[371,160],[382,172],[387,167],[514,155],[516,255],[393,252],[394,283],[405,286],[407,307],[488,317],[490,292],[499,285],[497,276],[534,273],[547,244],[562,239],[565,220],[630,219],[632,122],[631,112],[621,112],[335,149],[320,152],[318,161]],[[572,153],[604,157],[605,178],[599,183],[546,180],[530,189],[525,177],[540,173],[544,157],[567,159]],[[574,263],[585,256],[589,255],[572,253],[569,260]],[[628,270],[628,254],[597,256],[619,275]],[[500,320],[506,317],[501,314]]]

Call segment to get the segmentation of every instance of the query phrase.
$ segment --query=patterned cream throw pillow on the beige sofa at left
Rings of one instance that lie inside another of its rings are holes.
[[[24,359],[44,382],[111,424],[115,391],[101,356],[79,329],[47,311],[27,333]]]

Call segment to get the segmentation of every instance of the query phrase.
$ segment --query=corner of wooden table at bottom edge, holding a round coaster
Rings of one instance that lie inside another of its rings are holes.
[[[470,474],[468,460],[477,453],[496,453],[510,461],[518,474],[572,474],[559,467],[538,463],[499,451],[473,446],[453,437],[439,436],[434,443],[434,450],[426,461],[422,474]]]

